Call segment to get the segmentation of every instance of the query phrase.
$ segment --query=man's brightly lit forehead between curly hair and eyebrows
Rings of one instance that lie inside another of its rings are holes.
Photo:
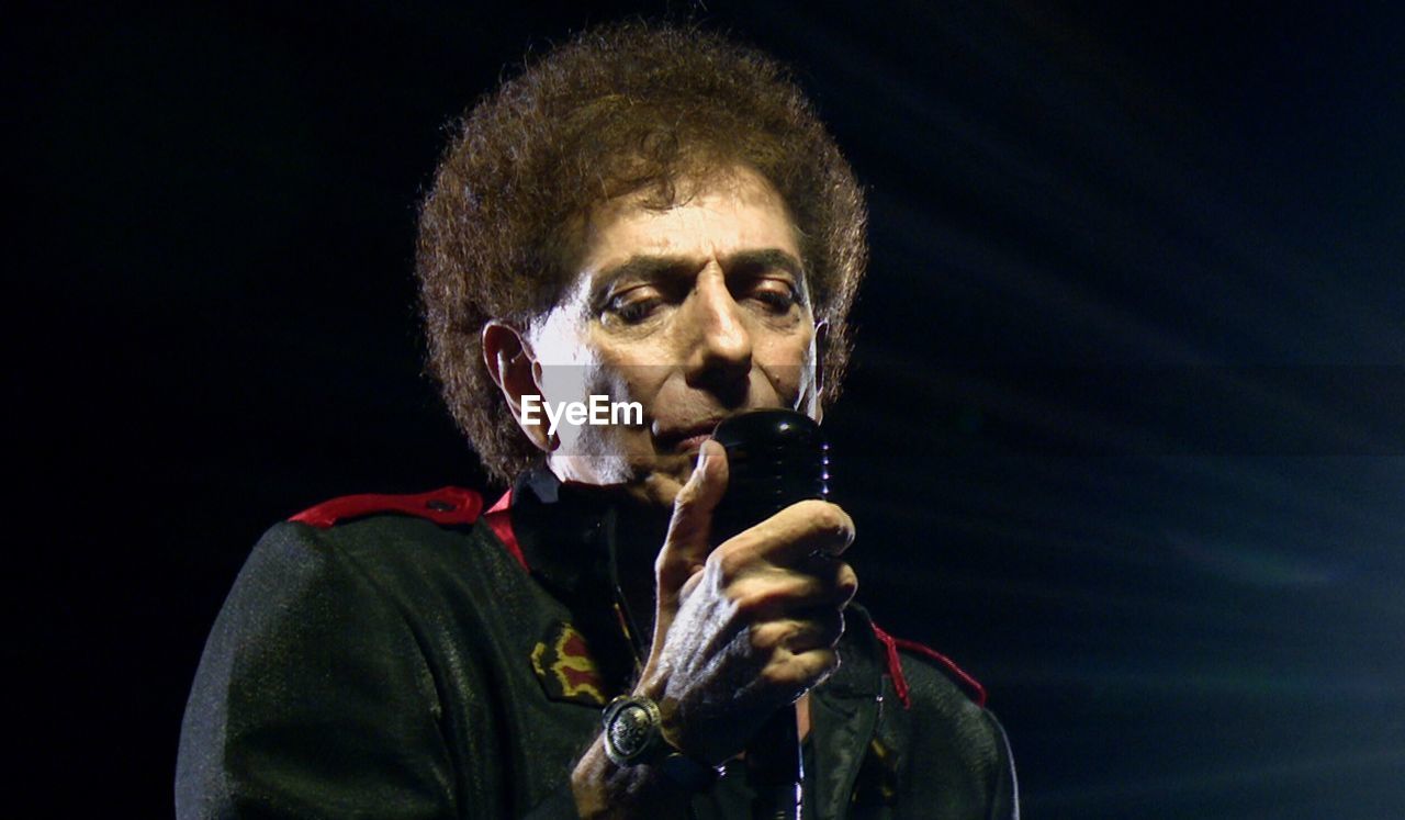
[[[677,184],[677,201],[659,208],[646,192],[592,211],[577,271],[586,278],[632,257],[686,257],[700,264],[739,251],[780,250],[799,258],[799,239],[784,199],[745,167]]]

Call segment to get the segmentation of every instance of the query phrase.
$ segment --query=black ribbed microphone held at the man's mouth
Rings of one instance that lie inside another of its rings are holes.
[[[724,418],[712,438],[726,449],[726,493],[712,512],[712,545],[785,507],[829,496],[829,442],[819,424],[794,410],[753,410]],[[805,762],[795,709],[771,715],[746,748],[752,816],[799,820]]]

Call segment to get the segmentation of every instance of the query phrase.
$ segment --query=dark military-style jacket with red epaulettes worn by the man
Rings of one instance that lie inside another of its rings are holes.
[[[625,528],[559,489],[528,473],[482,518],[462,490],[354,497],[270,529],[195,677],[177,814],[575,816],[569,772],[635,653]],[[950,671],[857,607],[840,657],[812,695],[806,817],[1017,817],[1005,736]]]

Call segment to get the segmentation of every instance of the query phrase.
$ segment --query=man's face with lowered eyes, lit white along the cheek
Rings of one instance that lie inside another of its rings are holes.
[[[547,402],[638,402],[642,424],[562,421],[563,480],[672,504],[717,423],[759,407],[818,418],[815,320],[785,204],[746,168],[684,180],[667,209],[642,195],[586,220],[573,286],[528,331]]]

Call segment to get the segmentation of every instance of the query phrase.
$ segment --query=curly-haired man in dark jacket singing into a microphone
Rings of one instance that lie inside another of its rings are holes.
[[[448,406],[513,489],[271,529],[201,663],[178,813],[745,817],[738,761],[794,710],[806,816],[1017,816],[969,680],[850,605],[843,510],[712,532],[717,423],[837,390],[863,219],[784,72],[707,32],[587,32],[481,102],[419,275]],[[568,411],[592,397],[636,413]]]

